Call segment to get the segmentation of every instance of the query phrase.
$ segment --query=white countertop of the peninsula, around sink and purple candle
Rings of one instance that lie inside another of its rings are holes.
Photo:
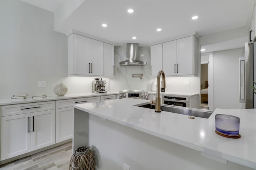
[[[135,104],[149,100],[118,99],[74,105],[75,108],[120,123],[185,147],[256,168],[256,109],[216,109],[208,118],[162,111],[155,113]],[[240,139],[215,133],[216,114],[240,117]]]

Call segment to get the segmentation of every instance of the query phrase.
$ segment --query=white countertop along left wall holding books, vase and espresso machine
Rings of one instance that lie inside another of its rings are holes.
[[[2,105],[10,105],[10,104],[24,104],[24,103],[32,103],[32,102],[46,102],[46,101],[53,101],[53,100],[65,100],[65,99],[74,99],[74,98],[85,98],[85,97],[94,97],[94,96],[106,96],[118,94],[118,92],[106,92],[106,93],[78,93],[78,94],[66,94],[65,96],[47,96],[45,98],[36,98],[32,99],[32,96],[28,96],[26,99],[18,99],[12,100],[11,98],[0,99],[0,106]]]

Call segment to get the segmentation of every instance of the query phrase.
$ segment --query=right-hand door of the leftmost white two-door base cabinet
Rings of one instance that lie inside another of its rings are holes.
[[[31,151],[55,144],[55,110],[31,113]]]

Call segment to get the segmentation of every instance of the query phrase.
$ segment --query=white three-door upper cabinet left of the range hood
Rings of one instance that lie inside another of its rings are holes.
[[[68,36],[69,76],[114,77],[113,72],[113,45],[77,34]]]

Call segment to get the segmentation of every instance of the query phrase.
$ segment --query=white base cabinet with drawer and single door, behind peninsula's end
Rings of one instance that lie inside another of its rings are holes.
[[[56,143],[73,137],[73,105],[99,102],[100,97],[76,98],[56,101]]]

